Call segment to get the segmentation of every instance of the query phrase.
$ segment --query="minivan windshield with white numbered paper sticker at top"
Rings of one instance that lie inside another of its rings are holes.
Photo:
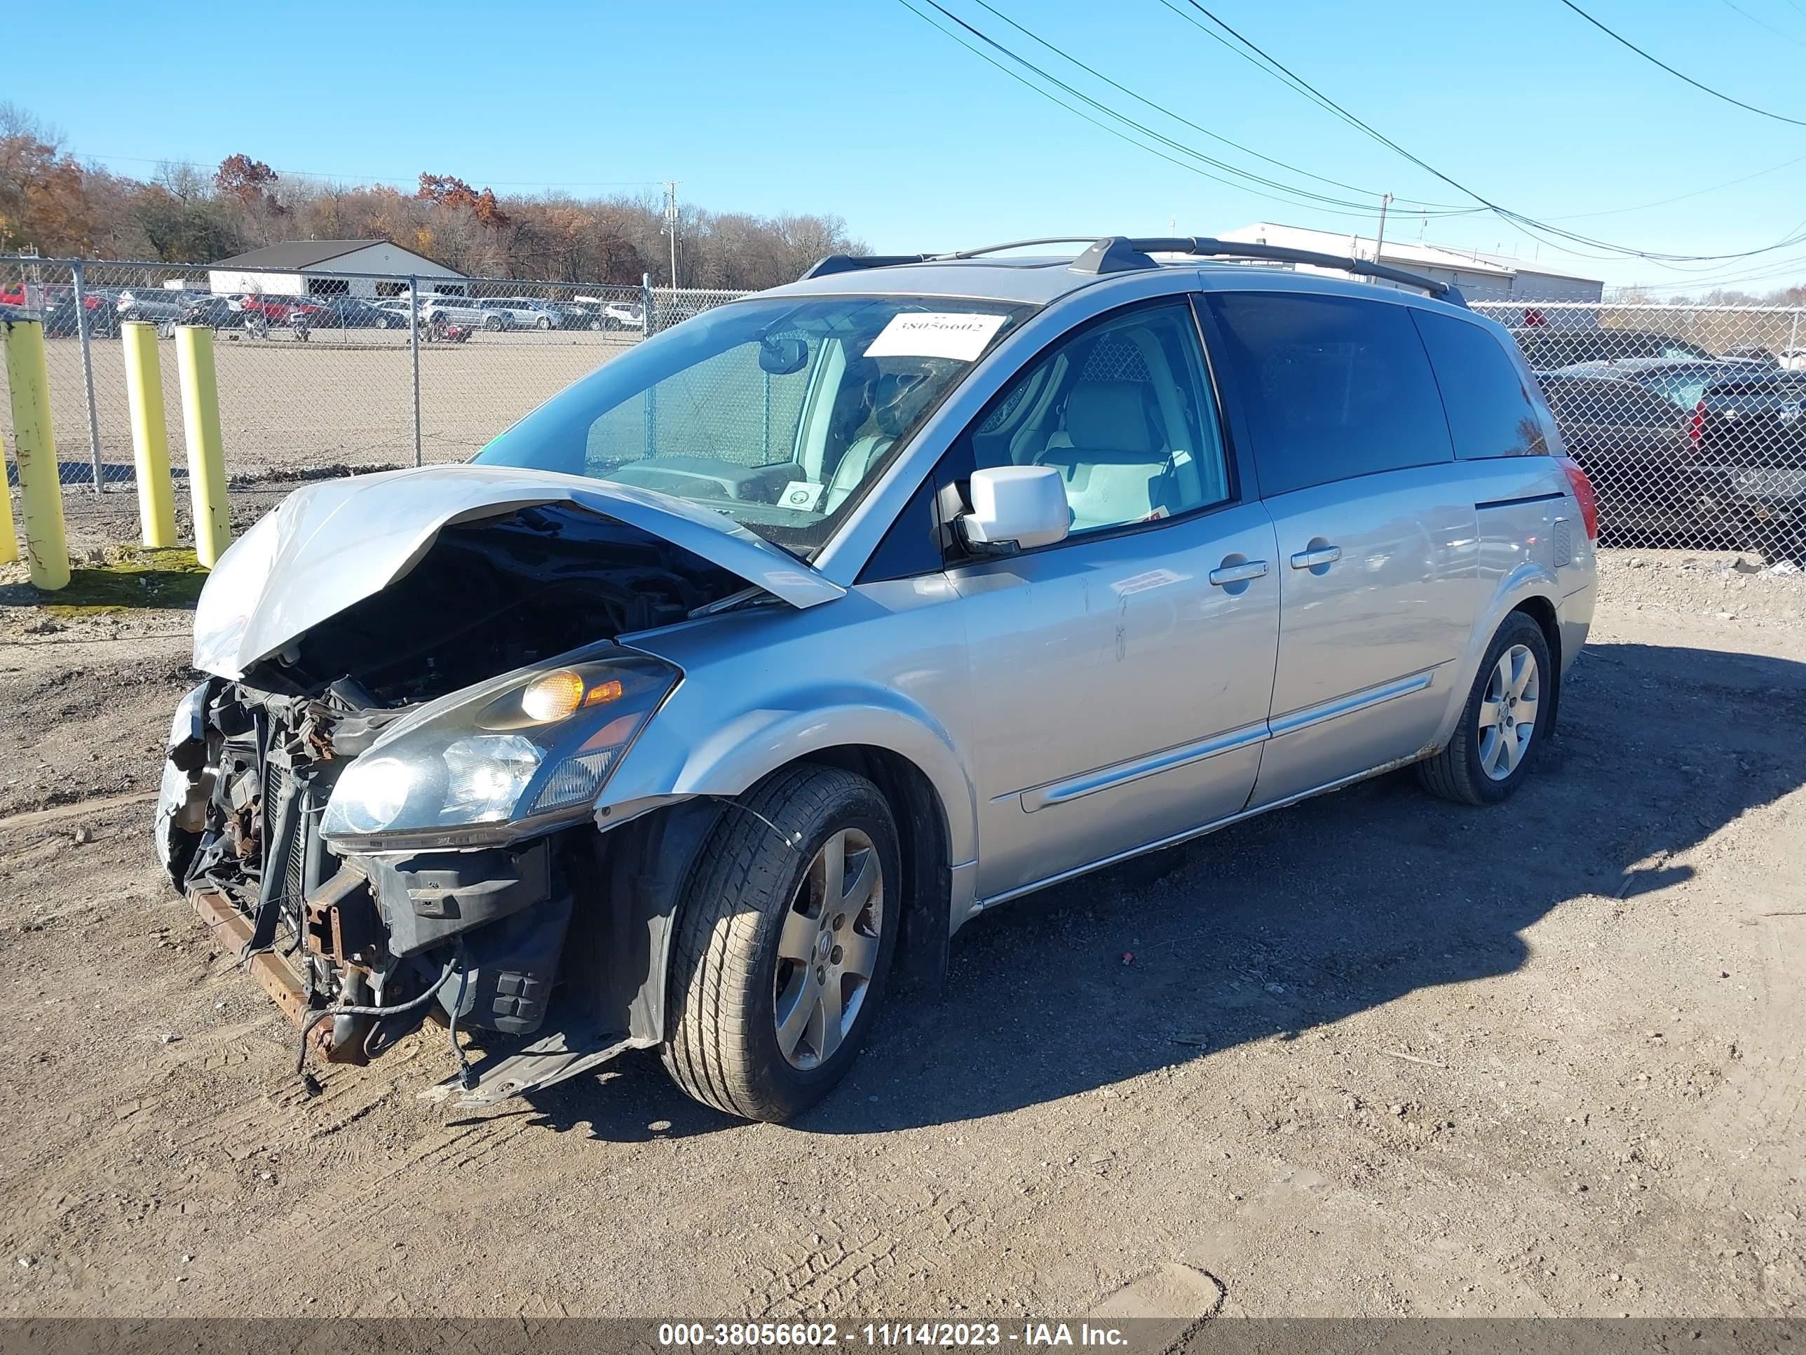
[[[1028,311],[943,296],[715,307],[554,396],[477,463],[657,490],[807,555]]]

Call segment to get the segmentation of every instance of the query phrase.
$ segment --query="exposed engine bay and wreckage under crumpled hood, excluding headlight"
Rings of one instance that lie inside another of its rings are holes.
[[[648,1017],[625,1014],[639,958],[616,947],[598,967],[616,923],[576,907],[609,889],[601,835],[587,818],[518,840],[497,824],[486,844],[442,849],[334,851],[321,826],[352,761],[426,703],[762,598],[638,528],[565,504],[524,508],[446,526],[386,589],[242,679],[215,676],[184,699],[157,846],[177,889],[240,943],[300,1024],[300,1062],[311,1050],[365,1062],[437,1014],[466,1091],[482,1080],[500,1098],[656,1039]],[[601,687],[612,688],[603,699],[621,692],[619,681]],[[583,784],[573,784],[583,815]],[[535,1041],[571,986],[573,950],[591,977],[569,994],[556,1033]],[[468,1068],[461,1028],[502,1042],[493,1082]]]

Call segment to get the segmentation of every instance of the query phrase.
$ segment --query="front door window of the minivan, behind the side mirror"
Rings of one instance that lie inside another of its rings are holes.
[[[999,392],[964,441],[975,468],[1055,466],[1073,535],[1230,497],[1197,322],[1183,300],[1060,340]]]

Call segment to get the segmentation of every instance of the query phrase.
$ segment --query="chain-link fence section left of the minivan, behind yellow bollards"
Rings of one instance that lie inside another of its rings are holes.
[[[228,472],[240,486],[464,461],[540,401],[742,293],[471,276],[0,257],[0,307],[42,320],[67,493],[130,488],[119,327],[215,331]],[[650,316],[650,327],[648,327]],[[184,473],[173,345],[161,381]],[[11,441],[0,374],[0,434]]]

